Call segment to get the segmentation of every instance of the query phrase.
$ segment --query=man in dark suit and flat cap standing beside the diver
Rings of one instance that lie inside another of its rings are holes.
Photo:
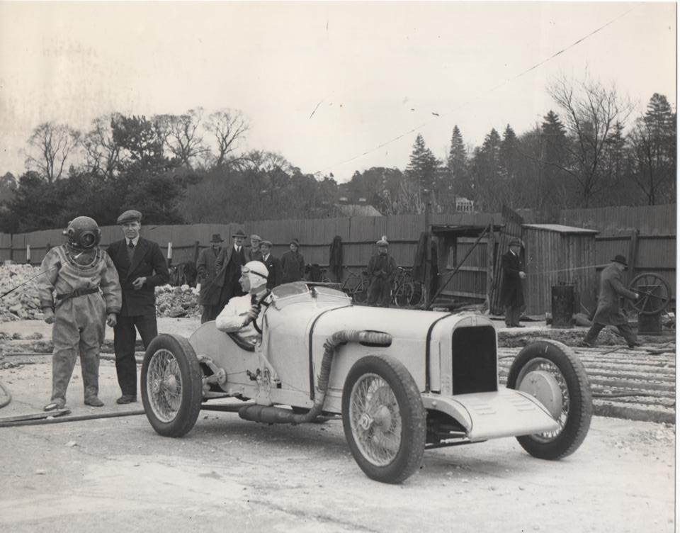
[[[140,237],[142,213],[125,211],[118,217],[118,224],[125,238],[112,242],[107,249],[123,288],[123,306],[113,328],[115,371],[123,393],[116,402],[131,403],[137,401],[135,327],[146,348],[158,335],[154,289],[167,284],[170,275],[159,245]]]

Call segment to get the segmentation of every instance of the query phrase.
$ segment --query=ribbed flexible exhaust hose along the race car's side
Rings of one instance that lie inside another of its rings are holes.
[[[316,398],[314,405],[305,414],[293,413],[289,409],[272,407],[270,405],[246,405],[239,409],[239,417],[251,422],[266,422],[267,424],[304,424],[313,422],[322,412],[326,393],[328,391],[328,381],[331,375],[331,362],[337,347],[348,342],[366,342],[378,346],[389,346],[392,342],[392,335],[389,333],[378,333],[374,331],[340,330],[331,335],[324,342],[324,357],[321,361],[319,371],[319,383],[317,384]]]

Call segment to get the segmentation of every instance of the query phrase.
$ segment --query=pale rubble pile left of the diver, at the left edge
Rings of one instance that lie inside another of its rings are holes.
[[[16,291],[0,298],[0,322],[42,320],[38,298],[39,275],[40,267],[31,267],[30,264],[0,266],[0,294],[18,287]]]

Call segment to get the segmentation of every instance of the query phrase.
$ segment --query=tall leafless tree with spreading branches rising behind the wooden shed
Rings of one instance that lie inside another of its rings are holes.
[[[617,123],[625,123],[632,111],[628,101],[586,77],[582,82],[558,79],[548,86],[548,94],[565,112],[568,157],[557,166],[576,181],[579,196],[588,206],[591,198],[606,185],[604,162],[608,141]]]

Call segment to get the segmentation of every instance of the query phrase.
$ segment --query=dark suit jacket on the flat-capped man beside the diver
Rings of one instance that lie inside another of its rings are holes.
[[[170,281],[168,265],[157,242],[142,237],[137,241],[132,262],[128,259],[128,240],[112,242],[106,249],[111,261],[118,271],[120,287],[123,289],[123,305],[121,316],[140,316],[156,314],[155,288]],[[135,290],[132,281],[139,277],[147,281],[139,290]]]

